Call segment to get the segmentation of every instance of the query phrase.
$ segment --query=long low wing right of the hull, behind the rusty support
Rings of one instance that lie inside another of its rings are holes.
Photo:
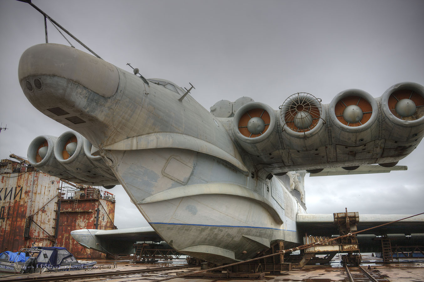
[[[359,215],[358,231],[378,226],[391,221],[406,218],[408,215]],[[313,236],[338,235],[338,229],[333,223],[332,214],[298,214],[297,229],[300,234]],[[360,234],[421,234],[424,233],[424,215],[418,215],[403,221],[391,223]]]

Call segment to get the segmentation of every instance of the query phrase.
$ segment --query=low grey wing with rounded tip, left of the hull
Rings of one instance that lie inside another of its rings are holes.
[[[136,242],[160,242],[162,238],[151,226],[98,230],[80,229],[71,231],[72,237],[85,248],[102,253],[131,254]]]

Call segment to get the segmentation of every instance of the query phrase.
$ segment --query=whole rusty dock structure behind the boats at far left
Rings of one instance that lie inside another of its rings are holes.
[[[70,187],[25,161],[0,163],[0,251],[61,246],[78,258],[104,258],[70,236],[75,229],[116,229],[114,195],[93,187]]]

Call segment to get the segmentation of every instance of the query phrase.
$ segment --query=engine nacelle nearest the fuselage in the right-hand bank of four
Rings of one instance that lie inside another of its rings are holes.
[[[264,103],[241,106],[234,114],[232,131],[243,149],[253,155],[269,154],[281,147],[276,112]]]

